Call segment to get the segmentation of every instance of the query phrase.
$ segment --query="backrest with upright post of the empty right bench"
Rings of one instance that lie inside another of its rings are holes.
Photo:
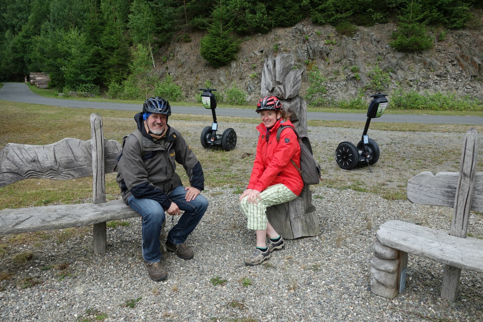
[[[466,237],[469,211],[483,212],[483,172],[476,173],[478,133],[466,132],[461,149],[459,172],[421,172],[408,181],[409,201],[425,205],[453,207],[450,234]]]

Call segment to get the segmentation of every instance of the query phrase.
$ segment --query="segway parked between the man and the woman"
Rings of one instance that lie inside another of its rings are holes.
[[[212,126],[206,126],[201,131],[201,146],[205,149],[209,149],[211,147],[223,148],[225,151],[230,151],[235,148],[237,145],[237,133],[234,129],[227,128],[223,131],[223,134],[216,134],[218,130],[218,123],[216,122],[216,98],[214,97],[212,91],[215,91],[214,88],[200,88],[201,93],[201,103],[205,109],[212,110],[213,113],[213,123]]]

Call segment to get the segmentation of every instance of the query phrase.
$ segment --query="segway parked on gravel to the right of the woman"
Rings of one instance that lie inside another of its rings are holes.
[[[339,167],[345,170],[351,170],[357,165],[367,164],[369,172],[372,172],[370,166],[379,160],[379,146],[376,141],[369,139],[367,130],[369,129],[370,120],[372,118],[383,115],[387,107],[387,94],[373,94],[370,97],[374,98],[369,103],[367,110],[367,121],[362,132],[362,140],[355,146],[353,143],[344,141],[339,143],[335,150],[335,160]]]

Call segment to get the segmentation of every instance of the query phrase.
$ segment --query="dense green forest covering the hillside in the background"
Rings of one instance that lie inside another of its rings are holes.
[[[216,68],[236,58],[240,37],[307,17],[348,34],[397,21],[391,46],[414,52],[431,48],[428,26],[471,27],[481,8],[479,0],[0,0],[0,81],[40,71],[64,92],[176,96],[172,78],[152,70],[167,59],[163,46],[191,41],[193,30],[206,30],[200,54]]]

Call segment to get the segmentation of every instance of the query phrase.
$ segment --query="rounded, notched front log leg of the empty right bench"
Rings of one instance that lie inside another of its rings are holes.
[[[393,298],[406,286],[408,253],[374,241],[374,258],[370,261],[370,290],[372,293]]]

